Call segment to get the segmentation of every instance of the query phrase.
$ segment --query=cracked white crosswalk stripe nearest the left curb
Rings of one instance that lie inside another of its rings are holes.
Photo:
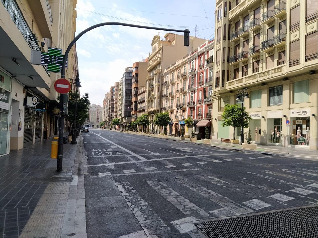
[[[152,210],[151,206],[137,193],[129,182],[115,182],[139,224],[148,237],[163,237],[170,230],[166,223]],[[154,236],[151,236],[154,235]],[[139,236],[138,236],[139,237]]]

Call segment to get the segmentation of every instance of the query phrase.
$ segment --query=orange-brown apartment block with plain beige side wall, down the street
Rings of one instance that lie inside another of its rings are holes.
[[[139,89],[145,88],[146,77],[148,76],[148,58],[145,61],[133,64],[133,84],[131,99],[131,120],[134,121],[138,116],[138,94]]]

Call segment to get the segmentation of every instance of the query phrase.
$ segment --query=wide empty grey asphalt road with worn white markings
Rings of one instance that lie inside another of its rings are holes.
[[[82,135],[87,237],[204,237],[193,221],[318,204],[317,161],[100,129]]]

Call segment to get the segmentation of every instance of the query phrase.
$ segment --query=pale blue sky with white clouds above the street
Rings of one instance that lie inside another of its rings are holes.
[[[188,28],[190,36],[195,36],[197,25],[197,37],[211,39],[214,36],[214,10],[215,0],[78,0],[76,35],[94,24],[123,22]],[[160,31],[160,36],[166,33]],[[121,79],[124,69],[149,56],[151,41],[157,34],[158,30],[112,25],[93,29],[79,38],[76,49],[80,93],[88,93],[91,104],[102,106],[106,92]]]

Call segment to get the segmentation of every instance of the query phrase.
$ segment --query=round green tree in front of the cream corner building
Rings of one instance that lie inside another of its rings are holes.
[[[225,126],[232,126],[235,128],[242,126],[242,107],[239,104],[236,105],[230,105],[226,104],[224,107],[224,111],[222,113],[222,127]],[[245,110],[245,107],[243,107],[243,127],[248,128],[248,125],[250,121],[252,120],[252,117],[248,115],[248,113]],[[234,133],[234,140],[235,140],[235,133]]]

